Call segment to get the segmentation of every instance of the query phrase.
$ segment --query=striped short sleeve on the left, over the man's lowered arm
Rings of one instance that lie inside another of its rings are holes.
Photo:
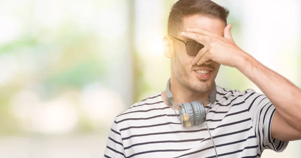
[[[103,157],[125,157],[121,134],[116,122],[116,118],[112,123]]]

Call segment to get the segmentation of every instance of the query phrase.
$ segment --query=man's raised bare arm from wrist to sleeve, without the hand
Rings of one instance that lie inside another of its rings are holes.
[[[301,90],[286,78],[251,56],[239,60],[236,68],[249,78],[276,108],[271,134],[278,140],[301,139]]]

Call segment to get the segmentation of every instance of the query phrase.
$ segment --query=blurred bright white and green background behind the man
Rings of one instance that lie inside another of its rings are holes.
[[[102,157],[114,117],[165,90],[175,2],[0,0],[0,157]],[[301,87],[301,1],[214,2],[243,50]],[[225,66],[216,82],[261,92]],[[301,141],[262,157],[301,157]]]

